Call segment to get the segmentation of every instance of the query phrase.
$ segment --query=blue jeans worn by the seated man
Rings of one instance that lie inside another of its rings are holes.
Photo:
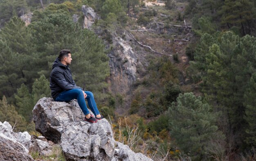
[[[81,90],[81,89],[76,88],[76,89],[71,89],[71,90],[65,90],[58,95],[58,97],[56,98],[55,101],[69,102],[72,99],[77,99],[77,102],[78,102],[81,110],[83,111],[84,115],[87,115],[90,113],[88,108],[86,107],[86,103],[85,103],[85,99],[87,99],[88,105],[89,105],[90,109],[92,110],[92,113],[94,113],[95,116],[99,115],[99,110],[96,106],[92,92],[90,92],[90,91],[84,91],[84,92],[87,95],[86,98],[84,98],[83,90]]]

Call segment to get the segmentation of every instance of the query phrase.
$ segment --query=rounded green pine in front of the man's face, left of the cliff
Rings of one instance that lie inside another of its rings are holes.
[[[104,80],[109,75],[109,58],[103,42],[87,29],[77,30],[74,35],[74,63],[71,66],[74,79],[85,90],[101,91],[107,86]]]

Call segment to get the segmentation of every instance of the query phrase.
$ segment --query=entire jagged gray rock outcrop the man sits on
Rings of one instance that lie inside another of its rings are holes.
[[[74,100],[66,103],[44,97],[33,109],[36,130],[47,139],[60,142],[67,160],[152,161],[115,141],[106,119],[90,124],[83,117]]]

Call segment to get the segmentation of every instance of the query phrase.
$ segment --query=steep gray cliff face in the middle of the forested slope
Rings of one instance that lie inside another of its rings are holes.
[[[123,35],[123,38],[112,35],[113,50],[108,57],[111,90],[114,93],[127,94],[148,64],[145,59],[146,51],[138,46],[129,32],[124,31]],[[136,46],[137,50],[132,46]]]

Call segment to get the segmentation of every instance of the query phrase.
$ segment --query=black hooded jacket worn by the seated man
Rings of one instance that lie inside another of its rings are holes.
[[[64,90],[83,88],[76,86],[72,78],[71,70],[68,65],[64,65],[57,57],[52,65],[52,72],[50,75],[50,88],[52,90],[52,98],[55,100],[58,95]]]

